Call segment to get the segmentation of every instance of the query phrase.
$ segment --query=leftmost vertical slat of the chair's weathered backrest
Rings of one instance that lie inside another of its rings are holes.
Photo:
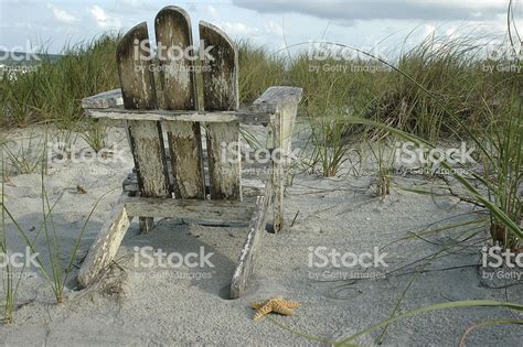
[[[143,45],[137,44],[142,42]],[[118,44],[116,61],[126,109],[157,108],[154,76],[149,68],[152,62],[147,58],[150,55],[147,47],[149,35],[145,22],[132,28]],[[141,195],[169,196],[170,184],[160,123],[136,120],[127,123]]]

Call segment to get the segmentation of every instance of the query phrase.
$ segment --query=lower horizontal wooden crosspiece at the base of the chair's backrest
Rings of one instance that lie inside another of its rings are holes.
[[[253,213],[253,206],[241,202],[152,197],[129,197],[126,199],[126,209],[130,216],[243,221],[244,224]]]

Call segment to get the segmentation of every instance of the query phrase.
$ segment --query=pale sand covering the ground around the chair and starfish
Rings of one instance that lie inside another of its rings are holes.
[[[11,132],[11,135],[26,135],[29,131]],[[124,131],[111,131],[110,141],[126,147]],[[45,176],[51,202],[65,189],[54,213],[64,263],[95,202],[116,188],[95,210],[82,242],[82,253],[96,238],[120,193],[121,181],[131,167],[129,153],[127,163],[52,165]],[[224,299],[246,228],[203,227],[162,219],[157,220],[157,228],[150,235],[138,235],[135,221],[117,257],[121,269],[114,267],[100,283],[86,291],[71,291],[74,285],[71,282],[63,305],[54,303],[49,284],[34,269],[26,271],[18,297],[18,303],[23,305],[15,312],[14,324],[0,327],[0,341],[9,346],[322,344],[286,330],[270,319],[254,322],[248,303],[273,295],[284,295],[302,305],[296,310],[296,316],[273,316],[275,321],[322,339],[349,336],[378,323],[387,318],[412,279],[409,272],[416,268],[409,264],[450,247],[452,240],[462,239],[463,229],[471,226],[428,236],[434,245],[410,239],[386,247],[382,251],[387,253],[388,268],[367,270],[385,279],[343,281],[321,276],[325,270],[361,274],[365,269],[311,269],[308,265],[309,248],[372,252],[375,246],[385,247],[406,237],[408,231],[423,230],[430,224],[435,229],[479,216],[473,214],[472,206],[458,204],[457,199],[418,195],[398,188],[399,185],[428,186],[420,177],[396,177],[392,194],[382,199],[375,197],[370,188],[373,175],[357,177],[348,172],[345,170],[343,174],[342,171],[335,178],[306,173],[296,175],[293,185],[286,192],[285,230],[279,235],[265,235],[263,252],[245,297],[236,301]],[[6,184],[7,206],[29,235],[35,232],[29,230],[38,229],[42,223],[40,182],[40,174],[35,173],[14,175]],[[76,185],[85,188],[87,194],[78,194]],[[295,224],[290,226],[298,212]],[[487,226],[481,227],[487,230]],[[8,232],[9,248],[23,250],[24,243],[11,223]],[[480,279],[477,264],[485,237],[481,234],[462,242],[462,247],[441,252],[444,257],[425,268],[430,271],[414,282],[399,312],[458,300],[522,303],[521,285],[492,289],[487,285],[492,283]],[[36,249],[44,253],[43,246],[41,236]],[[211,258],[214,268],[136,268],[132,248],[137,246],[182,254],[198,252],[203,246],[206,252],[214,253]],[[201,275],[201,272],[211,278],[186,278],[189,274]],[[384,345],[456,346],[467,327],[492,318],[521,319],[522,314],[485,307],[425,314],[391,325]],[[357,341],[372,345],[376,337],[377,334],[373,333]],[[472,333],[468,344],[521,346],[522,338],[521,327],[495,326]]]

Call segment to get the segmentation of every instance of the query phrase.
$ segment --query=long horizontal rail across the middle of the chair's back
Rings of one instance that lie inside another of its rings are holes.
[[[174,110],[126,110],[121,108],[86,109],[88,117],[109,120],[157,120],[183,122],[239,122],[265,126],[270,122],[268,112],[255,111],[174,111]]]

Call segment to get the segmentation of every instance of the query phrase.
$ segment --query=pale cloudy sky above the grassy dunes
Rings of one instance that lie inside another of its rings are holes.
[[[501,40],[509,0],[0,0],[0,50],[64,46],[105,32],[125,32],[168,4],[191,15],[193,36],[204,20],[233,39],[271,51],[302,42],[331,41],[386,52],[427,35],[474,35]],[[523,0],[515,0],[515,29],[523,35]],[[490,39],[489,39],[490,40]]]

